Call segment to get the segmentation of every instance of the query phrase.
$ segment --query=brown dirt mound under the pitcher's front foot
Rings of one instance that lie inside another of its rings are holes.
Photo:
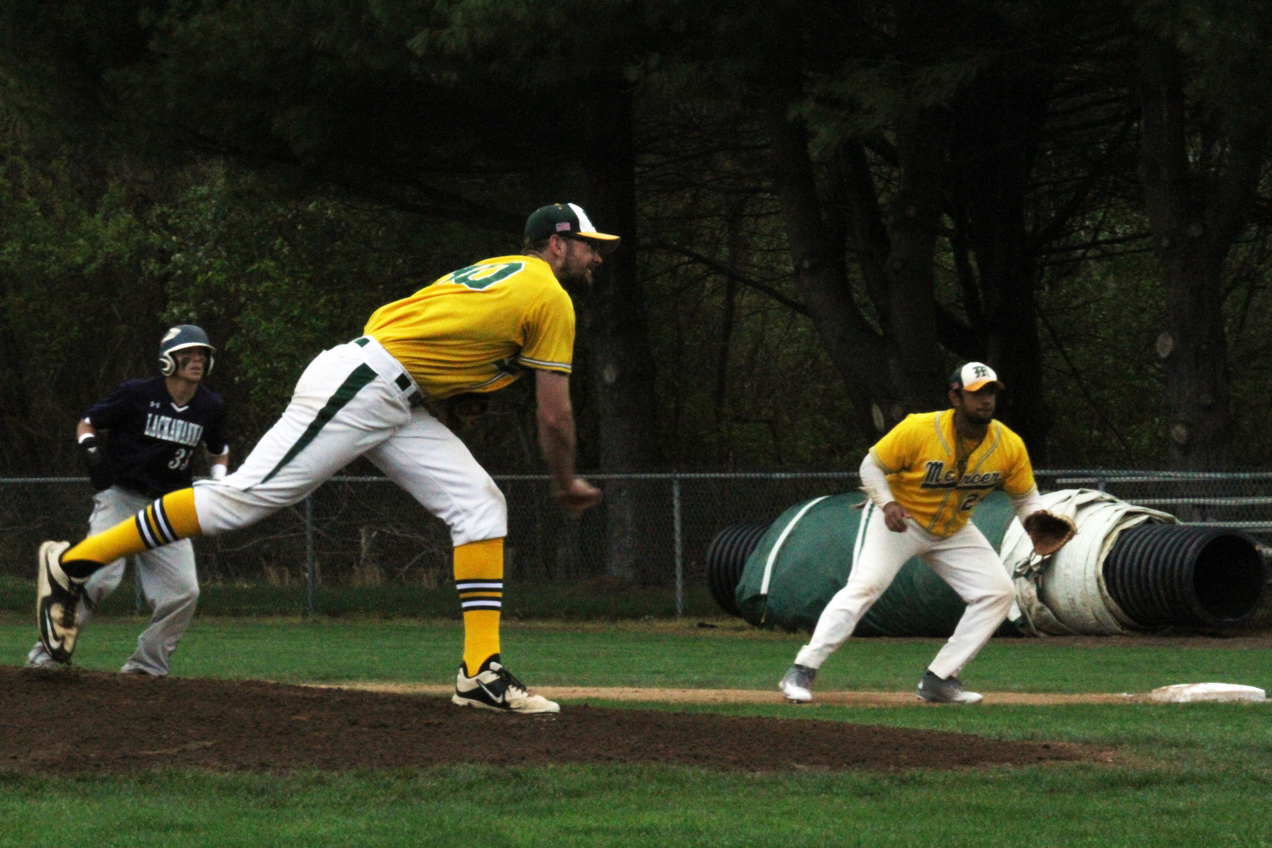
[[[547,692],[544,689],[544,692]],[[1110,753],[799,718],[566,706],[502,716],[435,695],[0,667],[0,772],[212,772],[664,763],[899,770],[1109,762]]]

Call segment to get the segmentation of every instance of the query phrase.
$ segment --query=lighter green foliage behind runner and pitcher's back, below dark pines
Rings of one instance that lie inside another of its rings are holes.
[[[9,473],[74,470],[75,418],[121,380],[154,374],[163,327],[179,322],[201,324],[218,346],[209,385],[230,402],[233,444],[245,450],[318,351],[500,240],[337,197],[294,200],[215,160],[156,177],[127,160],[104,165],[93,151],[37,154],[8,126],[0,465]]]

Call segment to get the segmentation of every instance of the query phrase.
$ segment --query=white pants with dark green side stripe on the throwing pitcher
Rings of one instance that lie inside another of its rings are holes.
[[[215,535],[254,524],[366,456],[445,521],[457,547],[508,535],[502,492],[421,399],[411,375],[374,338],[323,351],[238,470],[195,483],[200,529]]]

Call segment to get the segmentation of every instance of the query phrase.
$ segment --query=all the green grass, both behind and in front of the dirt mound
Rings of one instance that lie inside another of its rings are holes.
[[[20,662],[34,636],[29,618],[0,617],[0,661]],[[770,688],[803,642],[801,636],[716,623],[707,629],[693,620],[513,623],[505,627],[504,653],[532,684]],[[95,620],[76,661],[118,667],[142,626],[142,619]],[[173,670],[296,681],[441,683],[453,674],[460,642],[458,623],[446,620],[200,618]],[[965,676],[990,690],[1144,692],[1199,680],[1272,688],[1272,652],[1266,650],[1084,645],[995,639]],[[818,683],[909,689],[937,646],[937,639],[850,641]],[[675,709],[1075,741],[1117,749],[1118,764],[890,776],[480,764],[402,773],[167,772],[71,781],[0,773],[0,848],[472,842],[1272,847],[1266,812],[1272,704]]]

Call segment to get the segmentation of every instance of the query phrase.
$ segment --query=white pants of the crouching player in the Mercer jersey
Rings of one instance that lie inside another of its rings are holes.
[[[884,524],[883,510],[866,502],[848,582],[822,610],[813,638],[800,648],[795,662],[819,669],[852,636],[857,622],[911,557],[922,558],[967,603],[954,634],[929,670],[939,678],[957,675],[985,647],[1015,598],[999,554],[971,521],[944,539],[913,520],[906,525],[904,533],[893,533]]]

